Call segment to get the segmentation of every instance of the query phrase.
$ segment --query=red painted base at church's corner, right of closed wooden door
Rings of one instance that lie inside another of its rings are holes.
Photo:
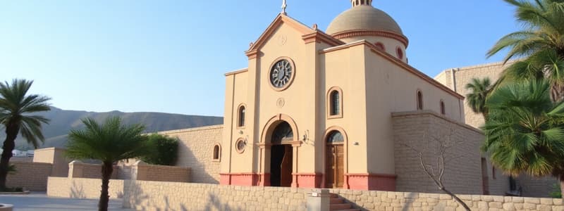
[[[396,175],[346,174],[345,182],[353,190],[396,191]]]

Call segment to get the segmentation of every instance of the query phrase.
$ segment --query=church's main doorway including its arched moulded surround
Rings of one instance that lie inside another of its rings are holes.
[[[288,115],[272,117],[262,130],[259,186],[296,186],[298,127]]]

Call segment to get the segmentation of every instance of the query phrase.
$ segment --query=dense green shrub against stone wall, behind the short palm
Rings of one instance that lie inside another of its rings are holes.
[[[178,139],[160,134],[148,136],[149,143],[154,146],[156,153],[141,158],[143,162],[152,165],[175,165],[178,159]]]

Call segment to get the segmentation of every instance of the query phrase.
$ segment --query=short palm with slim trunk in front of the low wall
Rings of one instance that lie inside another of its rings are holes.
[[[85,129],[71,130],[68,134],[68,158],[102,161],[102,191],[98,210],[108,210],[108,188],[114,162],[140,158],[152,153],[141,124],[123,125],[119,117],[109,117],[100,125],[95,120],[82,120]]]

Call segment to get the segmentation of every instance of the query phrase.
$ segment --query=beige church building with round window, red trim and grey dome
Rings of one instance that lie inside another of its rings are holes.
[[[407,64],[409,39],[372,0],[351,7],[326,31],[283,11],[248,68],[226,73],[220,184],[418,191],[430,180],[403,143],[458,130],[474,152],[449,176],[482,193],[483,136],[464,124],[464,97]]]

